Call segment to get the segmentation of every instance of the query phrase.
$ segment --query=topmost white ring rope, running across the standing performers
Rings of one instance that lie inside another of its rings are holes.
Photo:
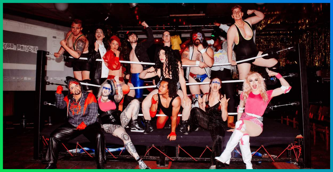
[[[281,52],[281,51],[284,51],[284,50],[290,50],[292,48],[294,48],[294,47],[289,47],[289,48],[286,48],[286,49],[283,49],[283,50],[280,50],[280,51],[277,51],[277,52]],[[53,53],[48,52],[48,55],[49,54],[54,55]],[[60,55],[60,56],[67,57],[67,56],[64,56],[64,55]],[[253,60],[253,59],[264,57],[264,56],[268,56],[268,53],[260,55],[260,56],[256,56],[256,57],[244,59],[244,60],[239,60],[239,61],[236,61],[236,63],[241,63],[241,62]],[[68,57],[69,58],[74,58],[72,56],[68,56]],[[88,60],[88,58],[86,58],[86,57],[81,57],[79,59],[81,59],[81,60]],[[96,59],[96,61],[104,61],[104,60],[103,59]],[[120,60],[119,62],[120,63],[131,63],[131,64],[155,65],[155,63],[148,63],[148,62],[133,62],[133,61],[123,61],[123,60]],[[230,65],[230,63],[213,64],[213,66],[224,66],[224,65]],[[198,66],[199,65],[182,65],[182,67],[198,67]]]

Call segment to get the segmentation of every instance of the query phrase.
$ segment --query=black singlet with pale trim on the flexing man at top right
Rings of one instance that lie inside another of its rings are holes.
[[[234,51],[236,53],[236,57],[241,57],[241,56],[246,56],[246,57],[255,57],[258,54],[257,47],[255,43],[253,42],[253,30],[252,27],[249,23],[245,22],[252,31],[252,37],[249,40],[246,40],[243,35],[240,33],[237,25],[237,31],[238,31],[238,44],[235,44]],[[245,26],[246,27],[246,26]]]

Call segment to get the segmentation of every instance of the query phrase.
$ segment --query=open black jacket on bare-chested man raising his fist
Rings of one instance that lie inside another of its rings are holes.
[[[135,55],[137,56],[140,62],[148,62],[150,63],[149,56],[147,54],[147,49],[153,45],[154,43],[154,35],[153,30],[150,27],[146,28],[148,39],[144,42],[138,43],[135,47]],[[142,65],[144,68],[148,65]]]

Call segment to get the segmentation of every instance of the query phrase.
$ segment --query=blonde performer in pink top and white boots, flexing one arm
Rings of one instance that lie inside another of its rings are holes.
[[[243,83],[243,92],[240,94],[238,106],[236,128],[233,131],[221,156],[215,157],[216,160],[229,164],[231,152],[239,142],[240,151],[246,169],[252,169],[250,150],[250,137],[259,136],[262,133],[262,115],[269,101],[278,95],[288,93],[291,86],[282,78],[279,73],[268,71],[269,76],[275,76],[281,82],[281,87],[266,91],[266,84],[262,76],[257,72],[251,72],[246,75]],[[243,113],[245,106],[245,112]]]

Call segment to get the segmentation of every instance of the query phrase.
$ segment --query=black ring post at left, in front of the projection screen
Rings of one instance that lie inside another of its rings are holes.
[[[42,95],[45,92],[45,65],[46,65],[46,51],[38,50],[37,51],[37,62],[36,62],[36,114],[34,122],[34,159],[41,159],[41,138],[40,138],[40,117],[41,117],[41,108]]]

